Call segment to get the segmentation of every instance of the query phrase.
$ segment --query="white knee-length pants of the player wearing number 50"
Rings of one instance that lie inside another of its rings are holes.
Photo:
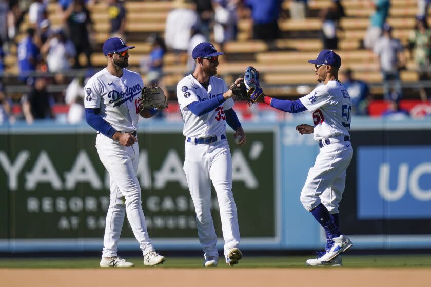
[[[322,203],[330,214],[338,213],[346,183],[346,169],[352,156],[350,141],[320,148],[301,192],[301,202],[306,210],[310,211]]]

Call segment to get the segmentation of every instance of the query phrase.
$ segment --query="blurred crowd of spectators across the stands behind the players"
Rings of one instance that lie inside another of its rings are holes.
[[[48,18],[50,0],[0,0],[0,73],[5,69],[5,53],[16,44],[19,80],[28,85],[29,92],[21,99],[23,118],[33,122],[39,118],[52,118],[51,106],[61,101],[69,105],[66,120],[74,123],[83,118],[82,95],[80,89],[92,69],[91,55],[94,49],[93,20],[88,8],[97,0],[58,0],[55,13],[61,16],[61,25],[53,26]],[[100,1],[99,1],[100,2]],[[185,65],[187,73],[194,69],[191,50],[201,42],[215,42],[224,50],[226,42],[236,40],[238,21],[251,21],[251,39],[263,40],[269,50],[278,49],[276,40],[283,37],[280,20],[287,16],[283,11],[283,0],[173,0],[173,9],[167,14],[164,34],[151,33],[147,42],[151,45],[147,56],[140,59],[140,71],[148,85],[164,84],[164,57],[167,52],[175,54],[175,64]],[[399,100],[403,97],[400,72],[406,68],[407,55],[418,67],[421,81],[430,79],[429,62],[431,56],[431,30],[426,21],[430,0],[418,0],[415,29],[408,38],[409,53],[402,42],[393,37],[392,27],[387,23],[390,0],[361,0],[364,7],[373,10],[369,26],[362,42],[364,49],[376,55],[376,63],[382,74],[383,96],[390,101],[388,113],[398,111]],[[106,0],[111,37],[128,37],[126,31],[127,10],[124,0]],[[304,20],[310,16],[309,1],[291,0],[289,17]],[[28,29],[24,37],[19,37],[19,27],[28,15]],[[316,14],[312,15],[315,17]],[[340,0],[332,0],[331,5],[317,13],[322,21],[320,31],[324,49],[340,49],[340,22],[346,13]],[[70,82],[64,73],[73,70],[76,77]],[[77,70],[79,69],[79,70]],[[88,72],[87,72],[88,71]],[[37,72],[37,73],[35,73]],[[49,73],[49,77],[34,77],[35,74]],[[52,76],[55,74],[55,76]],[[354,104],[352,112],[367,115],[373,101],[370,86],[354,77],[350,69],[342,70],[342,79]],[[49,95],[47,85],[64,84],[67,87],[62,98]],[[427,101],[431,95],[431,85],[418,84],[420,98]],[[44,94],[42,96],[42,94]],[[0,90],[0,122],[15,120],[11,116],[11,101]],[[394,108],[395,107],[395,108]],[[8,116],[9,115],[9,116]]]

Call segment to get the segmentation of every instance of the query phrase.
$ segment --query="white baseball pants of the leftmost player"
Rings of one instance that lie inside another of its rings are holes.
[[[143,254],[146,254],[153,247],[142,210],[141,187],[136,177],[139,160],[138,142],[125,147],[116,140],[97,134],[96,148],[100,160],[108,170],[111,191],[102,257],[117,256],[117,244],[125,213]]]

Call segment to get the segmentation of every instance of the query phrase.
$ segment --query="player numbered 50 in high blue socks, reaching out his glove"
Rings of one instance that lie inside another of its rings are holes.
[[[344,191],[346,169],[353,156],[350,143],[351,100],[346,88],[338,81],[341,58],[332,50],[322,50],[315,64],[318,86],[310,94],[294,101],[278,100],[268,96],[263,101],[273,108],[297,113],[310,111],[314,126],[301,124],[300,134],[313,133],[320,153],[310,168],[301,192],[304,208],[312,213],[325,229],[327,244],[318,258],[309,259],[307,265],[342,265],[339,255],[352,243],[339,230],[338,205]]]

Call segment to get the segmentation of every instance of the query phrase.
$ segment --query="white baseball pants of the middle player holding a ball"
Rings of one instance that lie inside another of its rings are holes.
[[[229,248],[238,248],[240,230],[232,194],[232,157],[227,140],[213,144],[185,144],[184,172],[196,211],[199,242],[205,259],[219,257],[217,235],[211,217],[211,181],[217,193],[226,257]]]

